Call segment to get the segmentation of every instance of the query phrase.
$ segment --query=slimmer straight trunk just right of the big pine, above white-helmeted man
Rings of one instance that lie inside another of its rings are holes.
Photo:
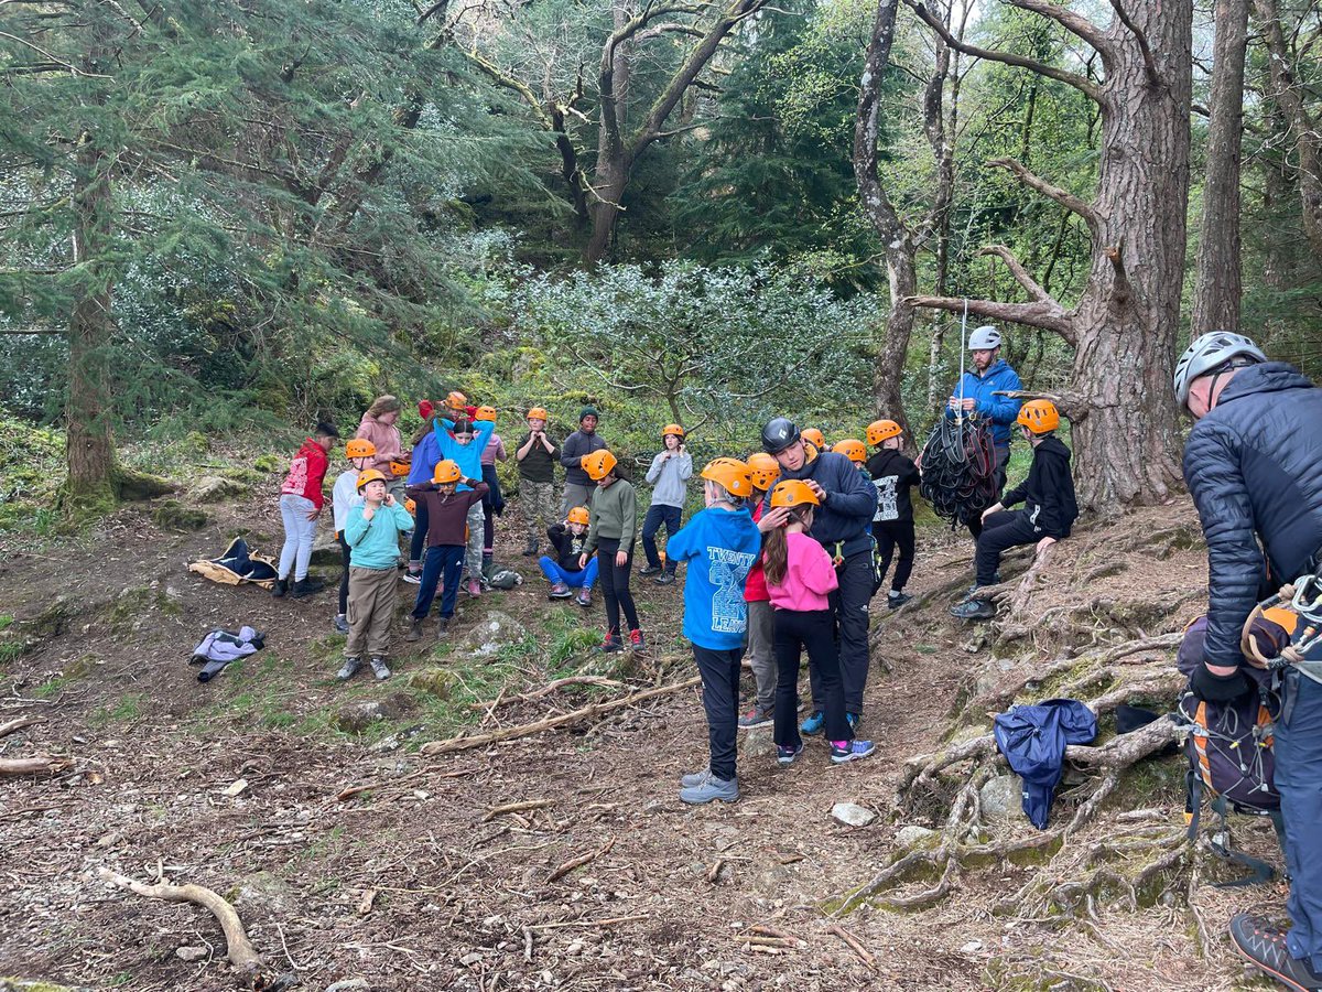
[[[1192,336],[1240,327],[1240,135],[1244,126],[1244,48],[1248,0],[1216,0],[1207,181],[1198,239]]]

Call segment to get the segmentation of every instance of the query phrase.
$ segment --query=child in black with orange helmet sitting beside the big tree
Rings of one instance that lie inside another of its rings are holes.
[[[1060,413],[1050,399],[1030,399],[1019,410],[1017,423],[1032,446],[1029,477],[1010,489],[1001,501],[982,512],[978,534],[977,583],[964,602],[951,607],[962,620],[990,620],[995,606],[984,590],[999,582],[997,569],[1001,554],[1017,545],[1036,545],[1040,554],[1056,541],[1068,537],[1079,517],[1073,476],[1069,471],[1069,448],[1056,436]],[[1023,503],[1021,511],[1006,511]]]

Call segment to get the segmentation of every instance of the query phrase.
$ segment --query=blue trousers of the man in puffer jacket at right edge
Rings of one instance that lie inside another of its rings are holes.
[[[1322,685],[1292,672],[1285,686],[1273,750],[1290,873],[1286,943],[1293,958],[1322,972]]]

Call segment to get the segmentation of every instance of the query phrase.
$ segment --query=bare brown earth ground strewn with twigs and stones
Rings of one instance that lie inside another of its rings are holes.
[[[1083,528],[1059,559],[1055,598],[1035,600],[1035,622],[1007,639],[945,615],[943,590],[969,579],[968,542],[924,532],[914,585],[933,595],[874,616],[865,731],[876,754],[832,767],[813,742],[781,770],[769,734],[756,731],[742,754],[743,799],[694,809],[676,795],[678,776],[705,755],[694,688],[509,742],[420,750],[693,677],[680,587],[637,583],[653,651],[603,665],[590,649],[599,607],[549,603],[502,534],[498,557],[529,577],[522,587],[463,602],[448,641],[428,636],[401,651],[391,680],[344,686],[333,679],[342,638],[329,591],[276,600],[185,570],[241,530],[278,550],[271,484],[242,497],[247,505],[237,499],[205,504],[197,530],[177,529],[197,520],[127,509],[78,538],[0,549],[0,616],[12,618],[0,619],[0,723],[41,720],[0,741],[0,755],[71,761],[53,776],[0,780],[0,975],[143,991],[241,984],[212,915],[115,889],[98,877],[110,868],[230,899],[264,959],[264,987],[1255,984],[1233,963],[1223,923],[1236,907],[1278,905],[1284,889],[1215,889],[1206,880],[1222,868],[1202,854],[1150,898],[1099,891],[1073,915],[1003,905],[1034,873],[1058,869],[1050,852],[962,865],[949,895],[920,911],[865,905],[836,915],[884,865],[932,843],[941,796],[929,808],[899,804],[898,784],[906,761],[945,743],[953,714],[968,722],[969,700],[1025,665],[1089,641],[1175,631],[1196,612],[1206,566],[1187,540],[1187,507],[1151,511],[1122,533]],[[316,570],[337,575],[337,565]],[[411,587],[401,590],[408,598]],[[267,632],[267,648],[200,684],[192,645],[243,623]],[[620,685],[506,705],[583,673]],[[990,716],[973,720],[985,729]],[[1069,849],[1178,827],[1181,762],[1137,767],[1067,839]],[[1088,775],[1068,775],[1055,816],[1068,817],[1088,790]],[[989,837],[1034,833],[1013,782],[993,779],[982,792]],[[862,808],[861,825],[833,816],[839,803]],[[522,806],[502,809],[512,804]],[[1236,823],[1236,841],[1274,856],[1260,824]]]

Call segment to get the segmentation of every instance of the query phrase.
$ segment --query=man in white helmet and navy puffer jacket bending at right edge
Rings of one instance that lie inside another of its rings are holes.
[[[1198,421],[1185,480],[1207,538],[1203,664],[1190,688],[1210,701],[1253,688],[1240,636],[1253,606],[1318,567],[1322,548],[1322,390],[1272,362],[1243,335],[1195,340],[1175,370],[1175,397]],[[1260,544],[1261,542],[1261,546]],[[1266,557],[1264,559],[1263,550]],[[1286,669],[1274,734],[1293,927],[1240,913],[1236,950],[1294,989],[1322,988],[1322,685]]]

